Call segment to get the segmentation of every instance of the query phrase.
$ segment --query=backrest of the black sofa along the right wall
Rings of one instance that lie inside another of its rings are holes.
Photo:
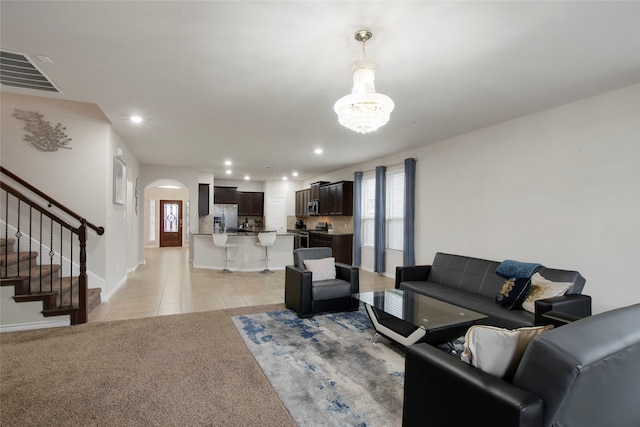
[[[500,262],[497,261],[438,252],[431,265],[429,281],[495,298],[505,282],[504,277],[496,274],[499,265]],[[585,279],[577,271],[545,267],[540,267],[537,271],[545,279],[554,282],[573,282],[574,285],[567,291],[569,294],[582,293]]]

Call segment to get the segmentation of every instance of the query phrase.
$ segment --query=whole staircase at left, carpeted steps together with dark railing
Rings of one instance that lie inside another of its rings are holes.
[[[87,229],[104,227],[2,166],[0,175],[0,285],[14,287],[16,302],[42,301],[45,317],[86,323],[101,291],[88,289]]]

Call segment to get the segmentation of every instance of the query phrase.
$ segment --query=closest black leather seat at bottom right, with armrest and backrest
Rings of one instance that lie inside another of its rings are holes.
[[[402,425],[640,426],[640,304],[535,337],[511,382],[407,347]]]

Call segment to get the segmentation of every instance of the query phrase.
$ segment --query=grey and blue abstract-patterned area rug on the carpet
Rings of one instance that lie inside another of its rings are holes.
[[[232,320],[298,425],[402,424],[403,351],[384,338],[372,342],[364,311]]]

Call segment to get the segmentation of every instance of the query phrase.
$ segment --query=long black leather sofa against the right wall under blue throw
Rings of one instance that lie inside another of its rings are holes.
[[[505,278],[496,273],[498,261],[438,252],[432,265],[396,268],[397,289],[407,289],[488,317],[478,323],[503,328],[543,324],[543,314],[554,311],[575,318],[591,315],[591,298],[582,295],[585,279],[577,271],[540,266],[536,272],[554,282],[573,282],[563,296],[538,300],[535,315],[523,309],[507,310],[496,303]]]

